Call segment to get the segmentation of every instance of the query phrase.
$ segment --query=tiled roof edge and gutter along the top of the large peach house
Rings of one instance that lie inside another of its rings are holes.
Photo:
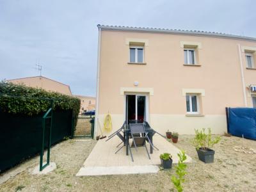
[[[181,29],[163,29],[163,28],[137,28],[128,26],[106,26],[98,24],[97,27],[102,30],[110,31],[138,31],[138,32],[148,32],[148,33],[172,33],[178,35],[194,35],[194,36],[212,36],[220,38],[234,38],[240,40],[250,40],[256,41],[255,37],[231,35],[227,33],[216,33],[209,31],[194,31],[194,30],[181,30]]]

